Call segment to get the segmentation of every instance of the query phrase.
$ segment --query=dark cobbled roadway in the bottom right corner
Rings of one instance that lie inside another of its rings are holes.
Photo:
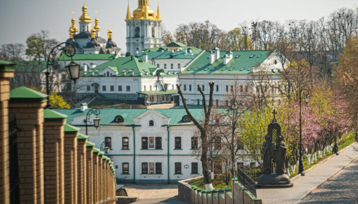
[[[337,176],[303,199],[300,204],[357,204],[358,161],[352,162]]]

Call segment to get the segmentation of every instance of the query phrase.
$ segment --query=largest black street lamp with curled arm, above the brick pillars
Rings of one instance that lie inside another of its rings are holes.
[[[47,65],[46,65],[46,94],[47,94],[47,106],[48,108],[50,105],[50,101],[48,99],[50,95],[50,71],[49,68],[52,66],[53,69],[58,69],[58,63],[57,63],[57,54],[58,53],[64,53],[67,57],[71,58],[71,63],[66,66],[66,71],[70,77],[71,80],[73,80],[76,84],[76,80],[80,77],[80,65],[75,63],[72,60],[72,57],[76,55],[76,48],[71,43],[60,43],[56,45],[50,52],[48,58],[47,58]]]

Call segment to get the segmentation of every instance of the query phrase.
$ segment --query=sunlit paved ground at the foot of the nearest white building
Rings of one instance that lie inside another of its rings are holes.
[[[128,196],[138,197],[134,204],[186,204],[178,199],[178,184],[125,184]]]

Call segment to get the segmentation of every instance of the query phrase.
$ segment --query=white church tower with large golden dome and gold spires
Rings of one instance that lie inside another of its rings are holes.
[[[138,8],[130,13],[129,2],[126,14],[127,26],[127,52],[135,55],[145,48],[160,47],[162,45],[161,36],[161,16],[158,10],[155,16],[154,10],[149,7],[148,0],[138,0]]]

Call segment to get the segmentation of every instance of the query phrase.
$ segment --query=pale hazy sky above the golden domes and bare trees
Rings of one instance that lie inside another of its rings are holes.
[[[158,0],[149,0],[157,12]],[[327,17],[338,8],[358,7],[358,0],[160,0],[162,24],[174,31],[177,25],[191,21],[205,21],[229,31],[240,22],[288,19],[317,20]],[[42,29],[50,31],[60,42],[69,38],[72,10],[77,20],[82,14],[83,0],[0,0],[0,45],[24,43],[31,33]],[[113,41],[124,52],[125,14],[127,0],[86,0],[88,15],[93,21],[98,11],[101,36],[107,39],[108,25],[113,31]],[[129,0],[131,12],[138,0]]]

